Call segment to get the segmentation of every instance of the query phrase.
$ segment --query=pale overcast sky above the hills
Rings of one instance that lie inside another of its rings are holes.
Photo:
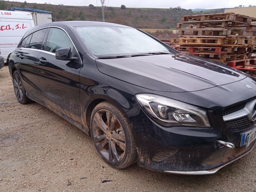
[[[88,6],[93,4],[94,6],[100,6],[100,0],[26,0],[28,3],[49,3],[51,4],[64,4],[74,6]],[[248,7],[256,5],[255,0],[106,0],[106,5],[112,7],[120,7],[124,4],[126,7],[132,8],[170,8],[180,6],[184,9],[217,9],[217,8],[232,8],[239,5]]]

